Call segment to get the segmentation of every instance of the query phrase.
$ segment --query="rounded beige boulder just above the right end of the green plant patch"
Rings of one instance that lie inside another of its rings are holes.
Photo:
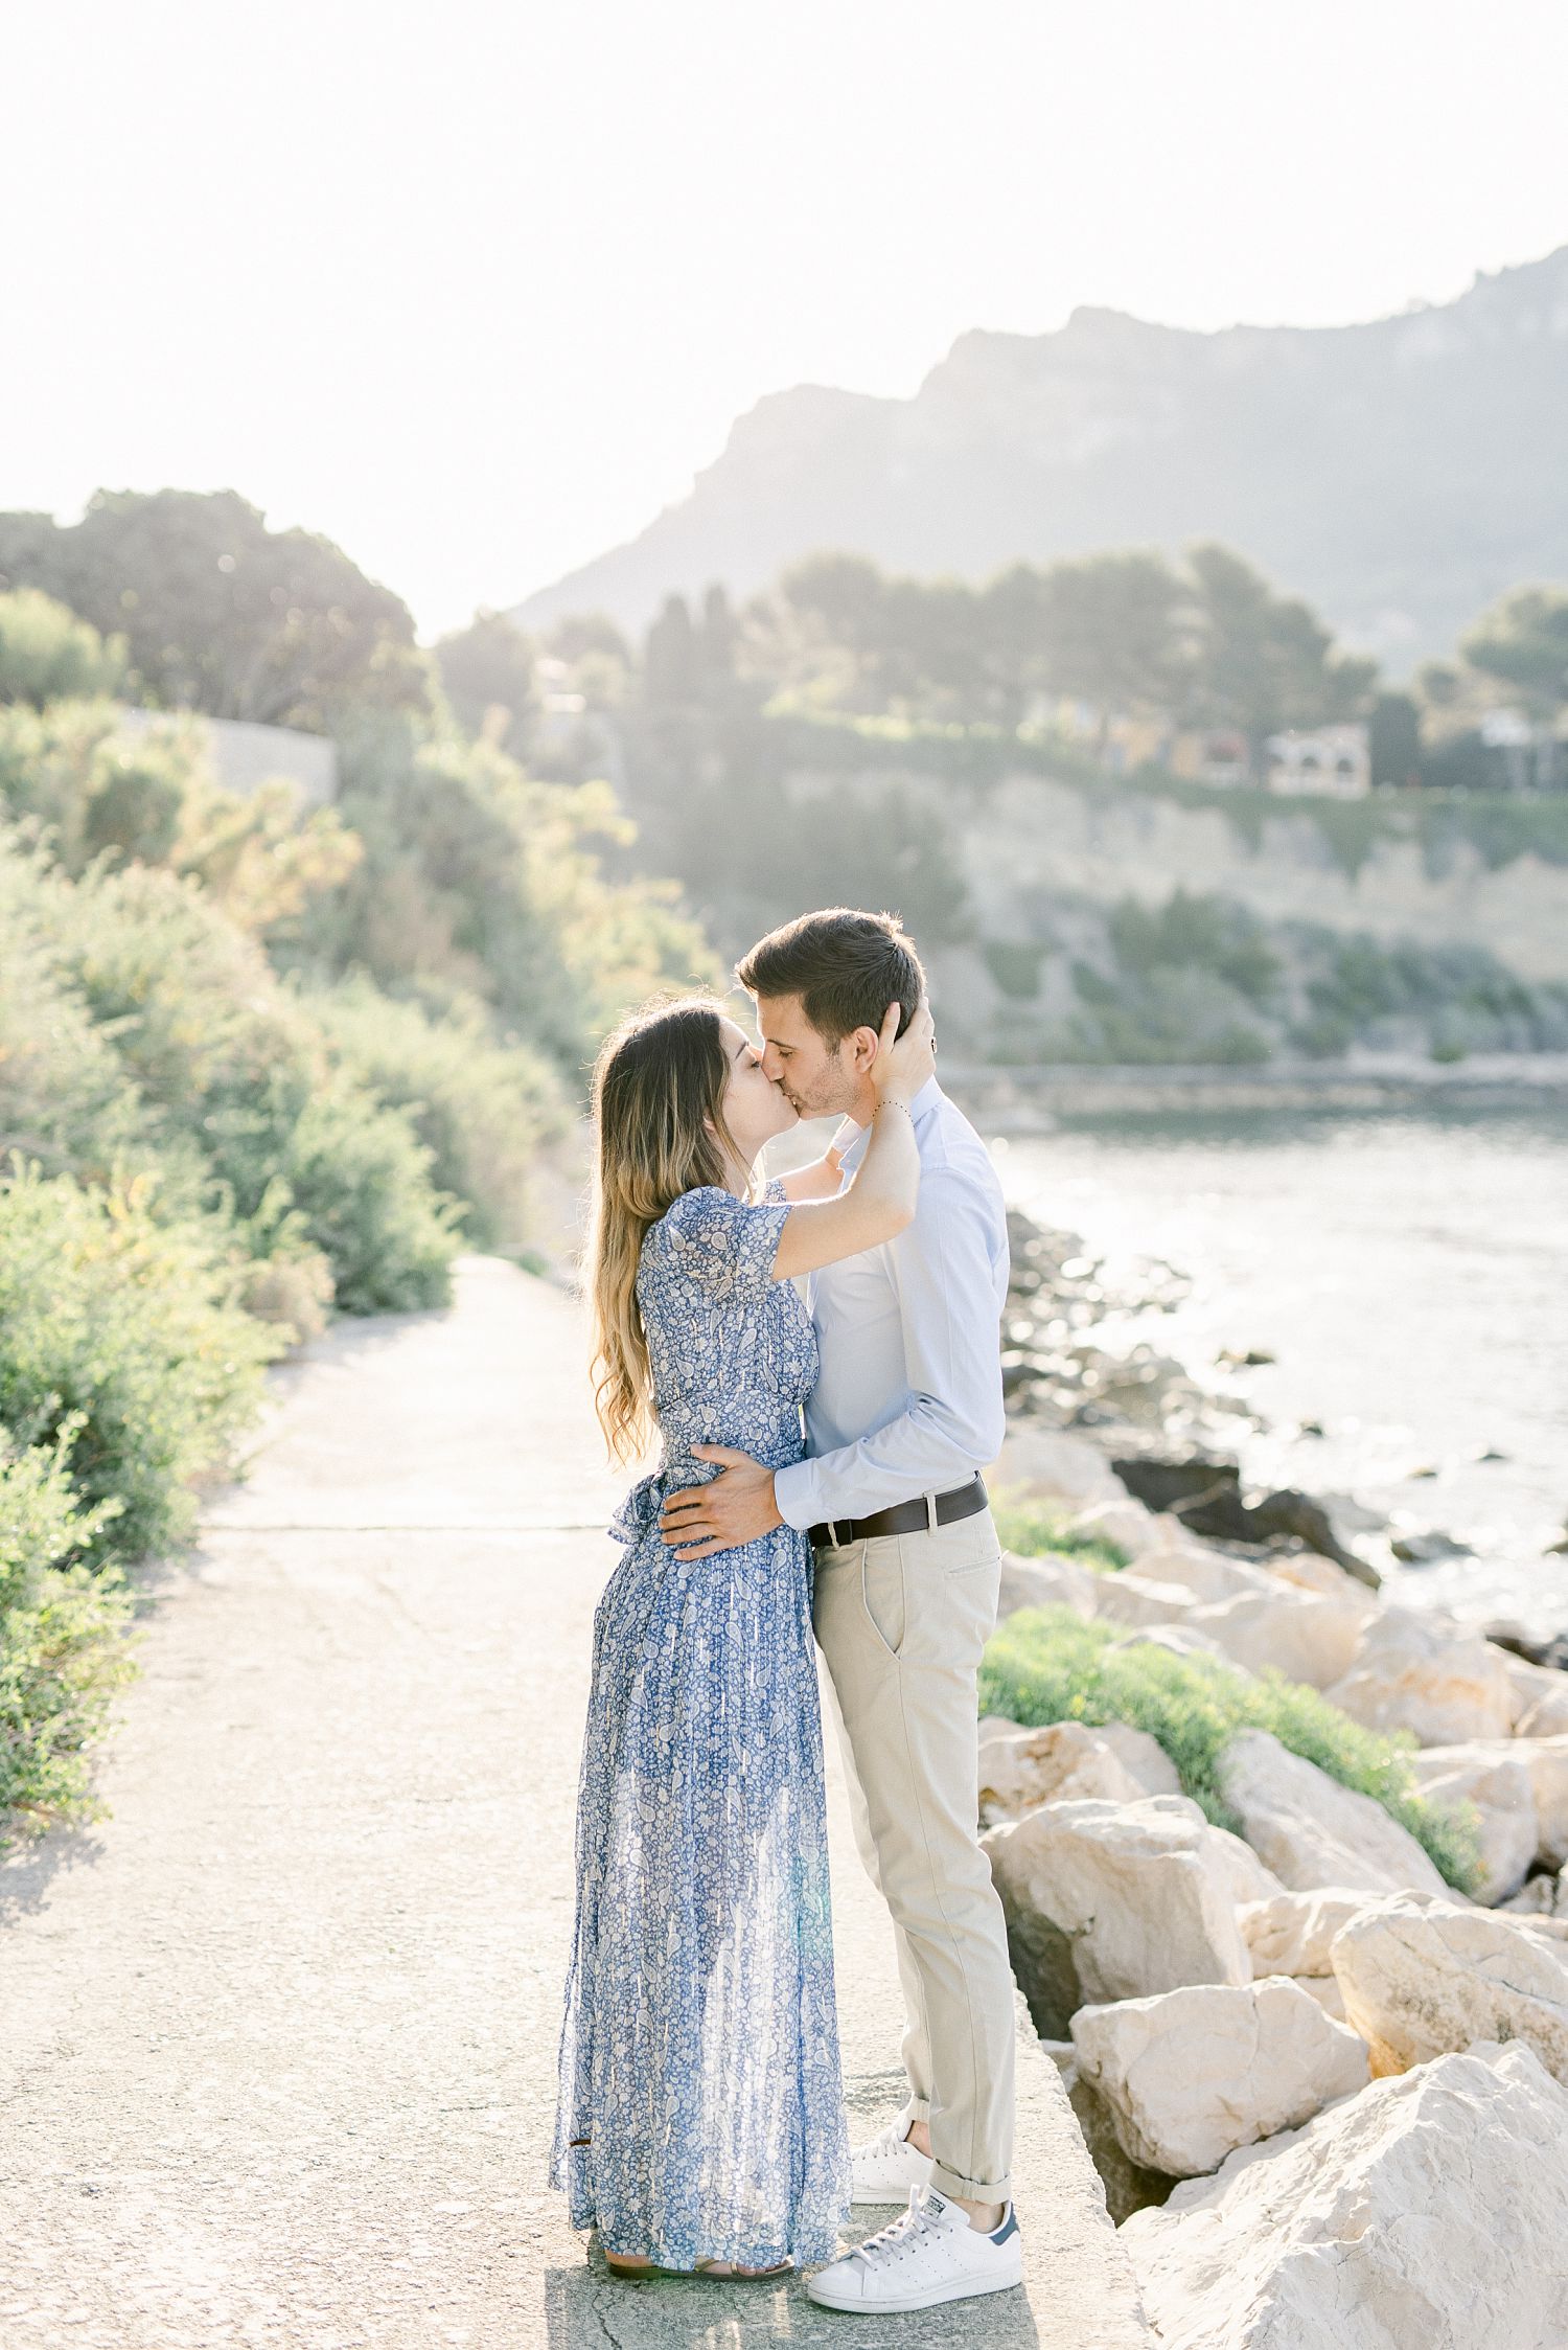
[[[1326,1694],[1368,1730],[1411,1730],[1422,1746],[1505,1739],[1519,1711],[1505,1652],[1415,1607],[1380,1607]]]

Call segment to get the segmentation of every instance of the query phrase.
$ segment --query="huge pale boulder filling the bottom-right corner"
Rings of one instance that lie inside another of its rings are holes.
[[[1568,2094],[1521,2047],[1439,2056],[1120,2242],[1162,2350],[1561,2350]]]

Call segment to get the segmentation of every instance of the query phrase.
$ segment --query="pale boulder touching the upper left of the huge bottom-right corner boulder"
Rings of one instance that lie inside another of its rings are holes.
[[[1366,2047],[1289,1981],[1080,2007],[1077,2063],[1143,2169],[1192,2178],[1366,2087]]]

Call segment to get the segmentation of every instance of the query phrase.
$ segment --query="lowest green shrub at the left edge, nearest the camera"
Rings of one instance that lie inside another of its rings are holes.
[[[75,1556],[117,1511],[77,1504],[73,1438],[63,1422],[21,1450],[0,1429],[0,1814],[38,1826],[85,1810],[82,1748],[131,1673],[124,1577]]]

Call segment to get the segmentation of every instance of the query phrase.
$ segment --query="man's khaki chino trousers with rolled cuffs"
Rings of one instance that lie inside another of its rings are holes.
[[[911,2120],[944,2195],[1012,2195],[1014,1988],[979,1849],[976,1671],[995,1626],[991,1511],[817,1551],[854,1838],[892,1911]]]

